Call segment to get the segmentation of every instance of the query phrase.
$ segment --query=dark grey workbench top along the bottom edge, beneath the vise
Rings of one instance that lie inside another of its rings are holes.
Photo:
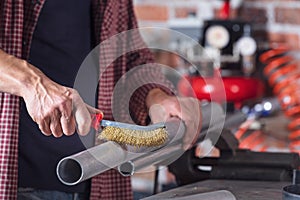
[[[213,192],[216,194],[215,199],[218,200],[218,192],[224,190],[231,192],[237,200],[281,200],[282,188],[290,184],[288,182],[206,180],[162,192],[143,200],[176,199],[176,197],[186,199],[189,195],[204,193],[209,193],[213,197]]]

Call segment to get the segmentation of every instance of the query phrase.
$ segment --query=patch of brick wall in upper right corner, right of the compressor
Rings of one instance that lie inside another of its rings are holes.
[[[253,15],[249,15],[249,10]],[[254,21],[255,30],[265,32],[269,41],[283,42],[293,50],[300,50],[300,1],[246,0],[239,15],[245,20]]]

